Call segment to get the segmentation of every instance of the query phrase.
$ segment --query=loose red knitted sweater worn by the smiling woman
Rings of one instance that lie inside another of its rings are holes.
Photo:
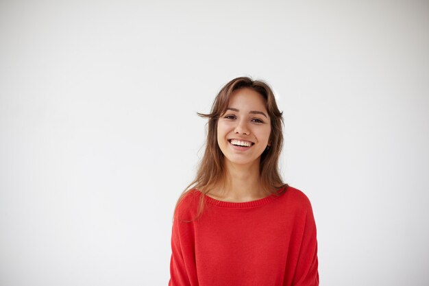
[[[310,201],[284,187],[252,202],[207,204],[200,191],[177,206],[171,234],[169,286],[317,286],[317,239]]]

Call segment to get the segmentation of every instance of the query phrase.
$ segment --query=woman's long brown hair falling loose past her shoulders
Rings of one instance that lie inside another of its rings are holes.
[[[180,195],[174,213],[176,213],[177,206],[192,189],[198,189],[201,193],[206,194],[219,186],[219,184],[225,182],[226,174],[225,168],[223,167],[223,153],[217,143],[217,122],[219,117],[226,112],[232,93],[240,88],[249,88],[262,95],[262,97],[264,97],[265,107],[271,119],[271,134],[269,138],[271,145],[269,149],[267,148],[260,156],[259,174],[262,187],[267,193],[274,193],[272,191],[273,189],[280,189],[286,185],[282,181],[278,169],[278,160],[283,147],[283,112],[278,109],[275,103],[273,91],[271,91],[267,83],[260,80],[252,80],[247,77],[234,78],[234,80],[231,80],[221,88],[221,91],[219,91],[215,98],[215,102],[213,102],[210,113],[198,113],[200,117],[208,118],[206,151],[199,163],[197,176],[195,176],[195,179],[191,184],[188,184],[188,187],[186,187],[185,191]],[[204,195],[201,195],[195,219],[198,219],[203,213],[204,203]]]

